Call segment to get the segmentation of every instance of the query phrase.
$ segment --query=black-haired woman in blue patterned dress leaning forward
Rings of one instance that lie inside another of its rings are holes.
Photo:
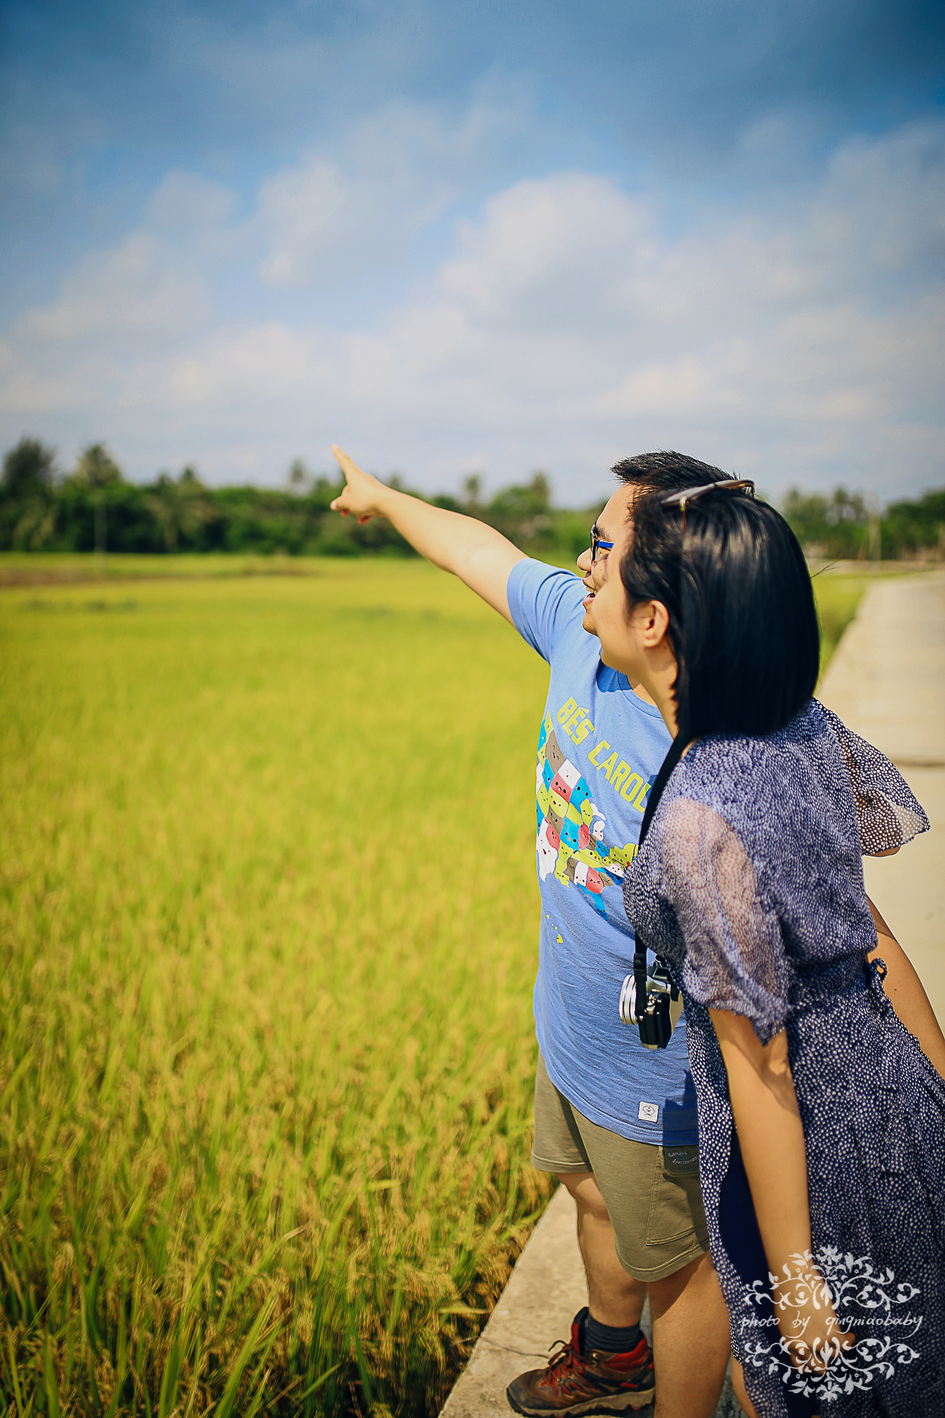
[[[752,493],[641,499],[589,604],[674,736],[627,915],[685,1001],[742,1407],[941,1418],[945,1039],[863,882],[928,820],[812,698],[807,566]]]

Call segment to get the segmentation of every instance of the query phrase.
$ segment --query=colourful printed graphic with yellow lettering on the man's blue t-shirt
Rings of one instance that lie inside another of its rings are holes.
[[[573,699],[562,705],[558,719],[575,743],[582,743],[593,730],[586,710],[578,709]],[[575,722],[572,723],[572,720]],[[609,749],[610,744],[604,743],[603,747]],[[595,752],[600,752],[600,744]],[[639,807],[643,813],[637,800],[646,803],[650,783],[644,781],[639,773],[633,774],[633,781],[627,781],[629,764],[620,761],[617,766],[619,754],[616,753],[613,760],[613,766],[595,763],[595,767],[609,770],[606,778],[617,791],[621,791],[624,783],[631,786],[630,797],[626,793],[623,797],[627,801],[633,800],[631,805]],[[620,773],[617,767],[621,770]],[[597,915],[606,919],[607,910],[600,898],[607,886],[620,885],[626,866],[636,856],[637,847],[636,842],[627,842],[624,847],[607,845],[607,818],[595,803],[585,774],[562,752],[551,718],[542,722],[538,736],[535,797],[538,875],[546,881],[553,872],[565,886],[576,886]]]

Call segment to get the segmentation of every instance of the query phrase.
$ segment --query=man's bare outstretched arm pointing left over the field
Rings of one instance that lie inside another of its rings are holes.
[[[512,624],[505,587],[508,573],[524,560],[524,552],[485,522],[465,518],[461,512],[447,512],[446,508],[431,508],[420,498],[387,488],[369,472],[362,472],[338,444],[332,444],[332,452],[348,484],[332,502],[333,512],[341,512],[343,518],[355,516],[359,522],[387,518],[420,556],[444,571],[453,571]]]

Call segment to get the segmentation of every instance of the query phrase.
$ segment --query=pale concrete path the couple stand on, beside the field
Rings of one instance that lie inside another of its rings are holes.
[[[945,571],[870,587],[824,676],[820,698],[897,763],[932,831],[866,864],[867,889],[945,1020]],[[575,1204],[560,1187],[525,1246],[460,1375],[443,1418],[508,1415],[505,1388],[548,1361],[587,1303]],[[644,1329],[650,1333],[648,1310]],[[653,1408],[641,1409],[650,1418]],[[741,1414],[731,1387],[717,1418]]]

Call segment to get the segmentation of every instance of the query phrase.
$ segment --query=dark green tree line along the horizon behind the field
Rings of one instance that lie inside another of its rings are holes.
[[[400,479],[389,479],[402,486]],[[382,520],[358,526],[331,512],[341,474],[311,474],[297,459],[285,488],[209,488],[194,468],[162,472],[149,484],[128,482],[101,444],[89,444],[64,474],[38,438],[21,438],[3,459],[0,550],[20,552],[241,552],[288,556],[410,556],[410,546]],[[534,554],[576,556],[603,503],[583,510],[553,508],[543,472],[482,499],[478,476],[463,496],[427,499],[498,527]],[[782,510],[810,557],[911,559],[945,556],[945,488],[890,503],[883,513],[861,493],[792,488]]]

